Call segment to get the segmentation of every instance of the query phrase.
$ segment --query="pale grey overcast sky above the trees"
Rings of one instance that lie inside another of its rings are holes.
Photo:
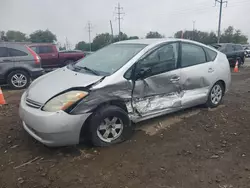
[[[145,37],[158,31],[166,37],[178,30],[195,28],[217,31],[219,4],[214,0],[0,0],[0,30],[20,30],[30,34],[49,29],[60,42],[67,37],[72,46],[88,41],[86,25],[93,25],[92,38],[110,32],[118,33],[115,7],[123,7],[122,32]],[[228,0],[223,9],[222,28],[233,25],[250,37],[250,0]]]

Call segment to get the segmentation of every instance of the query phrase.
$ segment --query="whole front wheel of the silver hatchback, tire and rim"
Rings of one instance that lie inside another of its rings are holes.
[[[98,109],[90,117],[88,126],[90,141],[99,147],[121,143],[130,138],[134,131],[128,114],[117,106],[103,106]]]

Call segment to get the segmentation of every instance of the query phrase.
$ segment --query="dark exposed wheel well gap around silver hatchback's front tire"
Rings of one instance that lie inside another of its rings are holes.
[[[111,100],[111,101],[101,103],[94,110],[92,110],[92,112],[95,113],[98,109],[102,108],[103,106],[107,106],[107,105],[118,106],[121,109],[123,109],[125,112],[128,112],[126,104],[120,100]],[[91,116],[92,116],[92,114],[87,118],[87,120],[82,125],[80,137],[79,137],[79,142],[82,142],[83,138],[89,139],[88,138],[88,135],[89,135],[88,131],[89,131],[89,120],[90,120]]]

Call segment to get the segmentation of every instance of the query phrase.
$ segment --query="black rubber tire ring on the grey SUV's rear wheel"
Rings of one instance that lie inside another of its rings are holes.
[[[20,86],[18,86],[18,84],[14,84],[12,82],[12,79],[14,79],[14,76],[15,75],[22,75],[23,76],[23,79],[26,80],[26,83],[23,83],[21,84]],[[12,89],[25,89],[29,86],[30,84],[30,75],[23,71],[23,70],[15,70],[15,71],[12,71],[11,73],[9,73],[9,75],[7,76],[7,83],[8,85],[12,88]]]

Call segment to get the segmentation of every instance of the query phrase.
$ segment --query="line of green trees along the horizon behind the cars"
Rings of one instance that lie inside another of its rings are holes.
[[[57,37],[49,30],[37,30],[30,35],[26,35],[20,31],[9,30],[7,32],[0,32],[2,40],[15,41],[15,42],[32,42],[32,43],[55,43]],[[157,31],[150,31],[146,34],[145,38],[164,38],[165,36]],[[214,44],[217,42],[217,35],[215,32],[206,32],[199,30],[186,30],[177,31],[174,34],[175,38],[184,38],[194,41],[198,41],[204,44]],[[139,39],[138,36],[128,36],[126,33],[120,33],[118,35],[111,35],[110,33],[101,33],[94,37],[91,44],[80,41],[75,45],[75,49],[82,51],[96,51],[108,44],[122,40]],[[235,29],[233,26],[226,28],[221,34],[222,43],[238,43],[247,44],[248,37],[242,34],[242,31]],[[65,49],[65,45],[60,47],[61,50]]]

